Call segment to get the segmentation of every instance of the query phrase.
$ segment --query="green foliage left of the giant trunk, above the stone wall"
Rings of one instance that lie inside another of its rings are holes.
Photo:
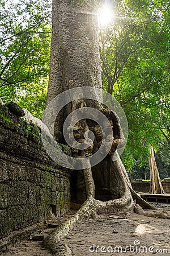
[[[26,106],[39,118],[48,87],[50,4],[44,0],[0,4],[0,97]]]

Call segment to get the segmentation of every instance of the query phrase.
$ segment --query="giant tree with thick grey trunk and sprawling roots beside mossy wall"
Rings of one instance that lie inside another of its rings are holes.
[[[50,55],[50,75],[47,106],[60,93],[66,90],[87,86],[88,88],[102,88],[100,74],[99,37],[97,28],[97,1],[84,1],[82,5],[70,0],[53,1],[53,27]],[[100,101],[99,101],[100,98]],[[54,134],[60,143],[66,143],[63,138],[62,126],[67,115],[73,110],[86,106],[103,113],[111,123],[113,130],[112,146],[109,154],[96,166],[82,170],[68,170],[70,174],[71,201],[82,205],[74,217],[66,222],[62,232],[59,228],[46,238],[45,243],[53,245],[53,240],[60,240],[76,221],[84,216],[95,213],[124,213],[134,209],[133,197],[143,207],[151,207],[142,201],[133,189],[119,156],[113,161],[113,154],[117,154],[117,146],[124,146],[125,139],[121,133],[121,126],[117,115],[101,102],[101,95],[95,101],[83,98],[67,104],[59,112],[54,124]],[[50,119],[50,117],[49,117]],[[70,127],[68,127],[69,133]],[[107,130],[107,127],[105,127]],[[75,158],[86,158],[87,152],[95,154],[101,146],[99,125],[94,120],[83,119],[75,123],[74,138],[83,142],[86,131],[95,134],[94,144],[86,150],[73,151]],[[133,195],[133,196],[132,196]],[[53,245],[54,246],[54,245]]]

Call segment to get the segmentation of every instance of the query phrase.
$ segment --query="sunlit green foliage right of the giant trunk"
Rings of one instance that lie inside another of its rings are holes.
[[[120,102],[129,123],[122,160],[147,165],[148,144],[167,151],[169,130],[169,1],[114,2],[114,20],[100,32],[104,89]]]

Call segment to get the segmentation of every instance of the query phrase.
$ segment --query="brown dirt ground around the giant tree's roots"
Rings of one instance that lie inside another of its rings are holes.
[[[156,210],[126,217],[108,216],[78,224],[61,242],[66,243],[72,255],[170,255],[170,205],[155,204]],[[159,211],[159,212],[158,212]],[[71,213],[70,213],[71,214]],[[152,217],[150,217],[152,215]],[[64,217],[63,217],[64,220]],[[53,220],[57,222],[58,220]],[[61,221],[61,218],[60,220]],[[52,228],[42,228],[36,234],[47,234]],[[102,247],[104,246],[104,247]],[[10,247],[2,255],[49,256],[42,242],[23,241]],[[62,255],[61,255],[62,256]]]

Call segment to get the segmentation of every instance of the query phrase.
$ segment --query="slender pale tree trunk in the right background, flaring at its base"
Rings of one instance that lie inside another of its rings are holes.
[[[158,167],[155,161],[154,148],[150,145],[150,157],[148,158],[148,162],[150,164],[150,191],[152,194],[165,194],[163,185],[160,180]]]

